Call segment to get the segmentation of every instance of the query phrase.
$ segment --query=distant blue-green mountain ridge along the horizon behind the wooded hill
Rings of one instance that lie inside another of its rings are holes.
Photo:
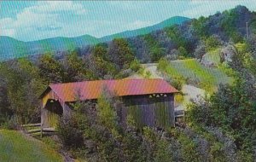
[[[150,32],[163,29],[167,26],[179,25],[189,20],[185,17],[172,17],[160,22],[154,26],[143,27],[141,29],[120,32],[103,38],[95,38],[90,35],[84,35],[76,38],[47,38],[32,42],[22,42],[15,38],[5,36],[0,37],[0,61],[25,57],[29,55],[44,54],[46,52],[66,51],[68,49],[82,48],[86,45],[93,45],[101,42],[108,42],[113,38],[131,38],[138,35],[148,34]]]

